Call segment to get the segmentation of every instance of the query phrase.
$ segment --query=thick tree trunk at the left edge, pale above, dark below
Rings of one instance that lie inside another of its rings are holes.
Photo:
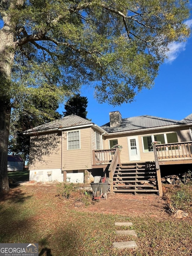
[[[8,8],[15,8],[15,1],[7,1]],[[2,12],[3,27],[0,29],[0,194],[9,191],[7,174],[7,153],[11,112],[11,68],[13,66],[16,42],[16,24],[11,21],[11,12]]]

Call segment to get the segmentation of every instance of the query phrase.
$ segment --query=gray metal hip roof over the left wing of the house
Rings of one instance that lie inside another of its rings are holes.
[[[24,133],[46,131],[46,130],[52,130],[52,129],[62,129],[67,127],[88,125],[88,124],[92,124],[92,122],[72,114],[70,116],[65,116],[61,119],[54,120],[44,125],[39,125],[35,128],[25,131]]]

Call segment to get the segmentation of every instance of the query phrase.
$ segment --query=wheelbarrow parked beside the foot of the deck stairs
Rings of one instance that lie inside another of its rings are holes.
[[[109,188],[110,183],[91,183],[91,187],[93,190],[94,200],[99,202],[99,199],[104,196],[105,200],[107,199],[107,189]]]

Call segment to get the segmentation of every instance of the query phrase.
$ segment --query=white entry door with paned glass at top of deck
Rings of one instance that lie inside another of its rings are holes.
[[[128,137],[129,161],[140,161],[138,137]]]

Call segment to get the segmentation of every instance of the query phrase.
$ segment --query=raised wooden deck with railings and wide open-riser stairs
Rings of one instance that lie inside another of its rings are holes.
[[[147,162],[121,164],[119,149],[93,150],[92,168],[107,168],[109,178],[113,180],[110,190],[114,193],[156,192],[162,196],[160,165],[192,164],[192,141],[153,145],[153,152],[152,169]]]

